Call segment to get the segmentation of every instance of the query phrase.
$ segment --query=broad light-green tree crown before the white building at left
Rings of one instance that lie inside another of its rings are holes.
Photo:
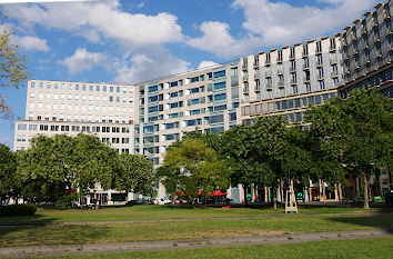
[[[119,167],[118,152],[95,136],[39,136],[31,148],[18,156],[18,172],[26,185],[24,195],[59,199],[66,191],[85,193],[99,182],[103,189],[113,187]],[[41,186],[37,186],[37,185]],[[38,189],[36,189],[38,188]]]

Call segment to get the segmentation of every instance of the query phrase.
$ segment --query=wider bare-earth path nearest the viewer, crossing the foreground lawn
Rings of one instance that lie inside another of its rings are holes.
[[[182,239],[142,242],[83,243],[56,246],[2,247],[0,258],[22,258],[34,256],[72,256],[92,253],[118,253],[151,250],[179,250],[211,247],[283,245],[328,240],[353,240],[393,237],[393,229],[371,229],[311,233],[266,235],[254,237],[231,237],[214,239]]]

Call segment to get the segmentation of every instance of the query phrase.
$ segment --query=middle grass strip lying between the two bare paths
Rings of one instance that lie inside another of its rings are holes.
[[[0,246],[130,242],[393,228],[393,215],[0,228]]]

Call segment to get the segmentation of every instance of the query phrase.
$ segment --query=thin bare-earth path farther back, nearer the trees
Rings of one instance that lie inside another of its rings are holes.
[[[0,222],[1,227],[28,227],[44,225],[107,225],[107,223],[141,223],[141,222],[171,222],[171,221],[193,221],[193,220],[231,220],[231,219],[270,219],[270,218],[301,218],[301,217],[319,217],[319,216],[351,216],[351,215],[393,215],[393,212],[340,212],[340,213],[304,213],[304,215],[272,215],[272,216],[244,216],[244,217],[212,217],[212,218],[181,218],[181,219],[137,219],[137,220],[99,220],[99,221],[63,221],[63,222]]]

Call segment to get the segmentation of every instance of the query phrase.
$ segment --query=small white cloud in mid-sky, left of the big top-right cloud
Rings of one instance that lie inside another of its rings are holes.
[[[191,38],[187,43],[223,58],[248,53],[260,44],[261,39],[253,36],[233,39],[229,29],[230,26],[228,23],[205,21],[200,26],[203,36],[200,38]]]

